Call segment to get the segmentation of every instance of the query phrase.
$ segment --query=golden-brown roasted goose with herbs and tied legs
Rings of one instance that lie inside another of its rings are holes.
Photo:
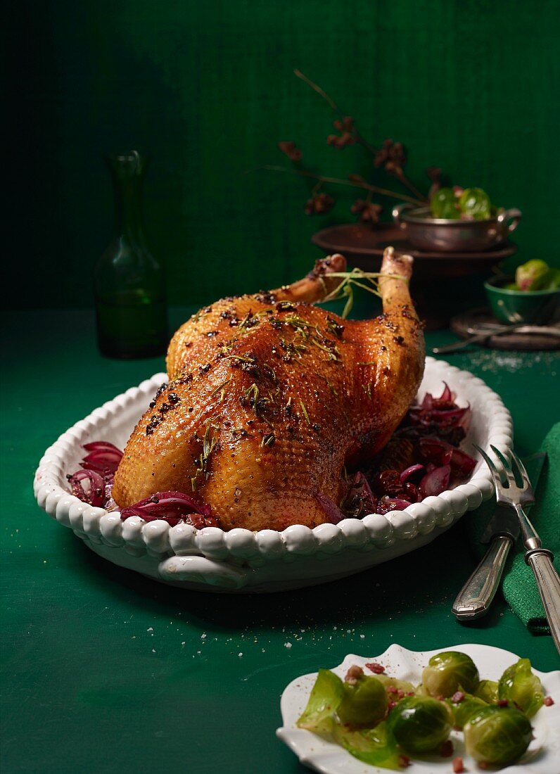
[[[195,491],[224,529],[313,527],[352,470],[384,447],[424,369],[412,259],[385,251],[383,313],[343,320],[312,304],[341,255],[291,286],[200,310],[169,344],[169,385],[135,427],[114,478],[121,507]],[[404,279],[403,279],[404,278]]]

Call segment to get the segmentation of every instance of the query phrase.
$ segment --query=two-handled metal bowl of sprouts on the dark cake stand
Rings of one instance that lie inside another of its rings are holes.
[[[394,207],[393,220],[418,250],[481,252],[507,240],[521,220],[521,211],[512,208],[483,221],[462,221],[432,217],[429,207],[405,203]]]

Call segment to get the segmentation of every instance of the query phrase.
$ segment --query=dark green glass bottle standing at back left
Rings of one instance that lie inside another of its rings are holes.
[[[106,159],[114,187],[114,235],[94,269],[97,343],[110,358],[149,358],[168,343],[162,266],[145,243],[142,183],[136,151]]]

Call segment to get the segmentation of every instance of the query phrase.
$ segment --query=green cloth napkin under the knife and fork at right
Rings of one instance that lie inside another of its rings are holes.
[[[535,502],[529,513],[529,518],[537,530],[542,545],[554,553],[554,565],[560,572],[560,422],[555,424],[545,438],[542,447],[548,455],[541,472]],[[534,481],[534,469],[531,462],[527,463],[527,472]],[[486,553],[487,546],[480,543],[484,529],[493,513],[495,501],[492,498],[485,502],[472,515],[465,519],[466,533],[476,557],[480,559]],[[510,557],[504,571],[502,591],[510,608],[516,613],[530,632],[548,632],[548,622],[542,608],[537,584],[531,567],[524,560],[525,548],[520,539]]]

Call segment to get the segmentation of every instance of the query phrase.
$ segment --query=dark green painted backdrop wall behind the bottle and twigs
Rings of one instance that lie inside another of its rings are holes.
[[[171,303],[275,286],[317,255],[306,185],[249,173],[295,139],[309,163],[367,173],[326,146],[329,108],[374,144],[517,206],[524,259],[560,259],[557,0],[53,0],[9,3],[4,266],[14,307],[87,307],[111,231],[104,152],[152,156],[146,219]],[[20,290],[21,288],[21,290]]]

